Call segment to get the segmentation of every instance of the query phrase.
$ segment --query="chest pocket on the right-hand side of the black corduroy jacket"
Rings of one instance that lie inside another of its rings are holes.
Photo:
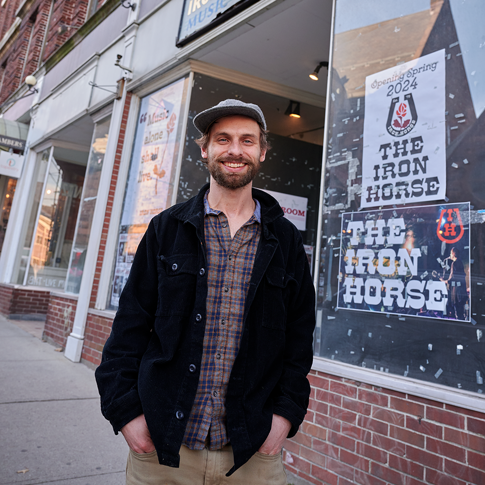
[[[290,298],[291,281],[283,268],[270,266],[263,279],[264,303],[262,325],[268,328],[284,330]]]

